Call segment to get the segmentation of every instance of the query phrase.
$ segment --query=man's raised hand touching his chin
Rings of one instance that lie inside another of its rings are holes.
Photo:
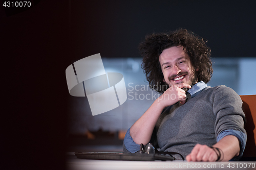
[[[191,86],[186,83],[172,85],[164,91],[157,101],[161,103],[163,108],[174,105],[179,101],[184,104],[186,102],[186,92],[182,88],[191,88]]]

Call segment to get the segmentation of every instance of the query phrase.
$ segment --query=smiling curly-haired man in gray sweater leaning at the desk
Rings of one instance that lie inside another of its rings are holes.
[[[180,29],[148,35],[139,47],[147,81],[162,95],[127,130],[124,152],[151,142],[187,161],[240,159],[246,143],[242,101],[226,86],[206,85],[212,66],[204,40]]]

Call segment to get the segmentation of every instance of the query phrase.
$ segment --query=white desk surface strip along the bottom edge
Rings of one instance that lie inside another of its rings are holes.
[[[256,169],[254,162],[187,162],[187,161],[114,161],[77,159],[69,154],[68,170],[104,170],[104,169]]]

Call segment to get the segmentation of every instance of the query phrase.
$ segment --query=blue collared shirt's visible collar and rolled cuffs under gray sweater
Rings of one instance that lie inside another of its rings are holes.
[[[207,87],[207,85],[203,81],[201,81],[201,82],[195,84],[194,86],[192,86],[192,88],[190,88],[187,92],[191,95],[191,98],[194,98],[206,87]],[[233,130],[233,129],[224,130],[217,136],[217,142],[220,141],[223,137],[225,137],[227,135],[233,135],[239,139],[240,154],[238,157],[235,157],[234,160],[240,159],[242,157],[244,149],[245,149],[246,138],[247,138],[246,134],[243,132],[237,131],[237,130]],[[123,143],[125,145],[125,148],[131,153],[135,153],[140,150],[140,145],[135,143],[135,141],[133,140],[133,138],[130,135],[130,128],[127,130],[127,132],[125,134]]]

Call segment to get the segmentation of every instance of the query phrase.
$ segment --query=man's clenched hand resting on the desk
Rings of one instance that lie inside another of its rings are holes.
[[[207,145],[196,144],[186,160],[189,161],[209,161],[214,162],[218,159],[217,153]]]

